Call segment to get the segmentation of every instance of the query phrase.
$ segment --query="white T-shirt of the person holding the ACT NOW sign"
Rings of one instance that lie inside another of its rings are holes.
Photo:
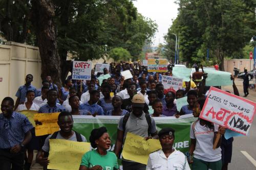
[[[214,129],[206,125],[200,125],[200,120],[195,126],[195,135],[193,132],[193,123],[190,126],[190,138],[196,138],[196,149],[194,157],[206,162],[215,162],[221,160],[221,147],[212,149],[214,142],[214,132],[218,132],[219,125],[214,124]]]

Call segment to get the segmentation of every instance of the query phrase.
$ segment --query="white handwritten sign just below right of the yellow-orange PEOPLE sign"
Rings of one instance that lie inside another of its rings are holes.
[[[183,79],[172,76],[163,76],[162,84],[164,89],[174,89],[175,91],[182,89]]]

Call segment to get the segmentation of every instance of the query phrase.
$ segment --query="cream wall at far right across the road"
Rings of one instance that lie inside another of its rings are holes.
[[[253,69],[253,60],[250,59],[231,59],[224,60],[224,69],[225,71],[231,72],[234,74],[234,67],[240,69],[240,72],[244,71],[244,67],[249,71]]]

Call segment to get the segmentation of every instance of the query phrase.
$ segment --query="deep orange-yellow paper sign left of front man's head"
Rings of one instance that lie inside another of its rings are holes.
[[[37,113],[34,114],[35,135],[42,136],[53,134],[59,130],[58,122],[59,113]]]

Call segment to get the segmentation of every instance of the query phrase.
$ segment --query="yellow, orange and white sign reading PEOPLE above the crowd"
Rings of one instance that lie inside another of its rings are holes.
[[[147,59],[148,72],[167,72],[166,59]]]

